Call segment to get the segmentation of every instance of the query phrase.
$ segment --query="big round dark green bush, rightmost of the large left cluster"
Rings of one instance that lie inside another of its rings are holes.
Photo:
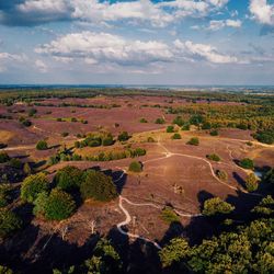
[[[100,171],[89,170],[80,187],[83,199],[111,201],[117,196],[117,190],[112,178]]]

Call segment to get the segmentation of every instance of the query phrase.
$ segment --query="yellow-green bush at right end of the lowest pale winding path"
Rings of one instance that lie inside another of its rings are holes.
[[[204,204],[202,212],[205,216],[214,216],[218,214],[229,214],[235,209],[232,205],[222,201],[219,197],[209,198]]]

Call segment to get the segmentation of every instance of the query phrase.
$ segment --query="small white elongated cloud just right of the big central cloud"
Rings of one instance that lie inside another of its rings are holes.
[[[239,62],[238,58],[230,55],[221,54],[217,50],[216,47],[207,44],[194,44],[191,41],[181,42],[176,39],[174,42],[175,48],[179,50],[179,54],[192,59],[204,59],[212,64],[237,64]]]

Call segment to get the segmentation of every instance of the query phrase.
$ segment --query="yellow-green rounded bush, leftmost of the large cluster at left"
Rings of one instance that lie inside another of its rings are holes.
[[[48,180],[44,173],[37,173],[27,176],[21,186],[21,198],[28,203],[33,203],[38,193],[47,191],[49,187]]]

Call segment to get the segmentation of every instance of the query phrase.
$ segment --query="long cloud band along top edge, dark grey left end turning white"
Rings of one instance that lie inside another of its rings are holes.
[[[32,25],[53,21],[116,22],[129,20],[165,26],[185,16],[201,18],[222,8],[228,0],[173,0],[152,2],[100,0],[14,0],[0,3],[0,23]]]

